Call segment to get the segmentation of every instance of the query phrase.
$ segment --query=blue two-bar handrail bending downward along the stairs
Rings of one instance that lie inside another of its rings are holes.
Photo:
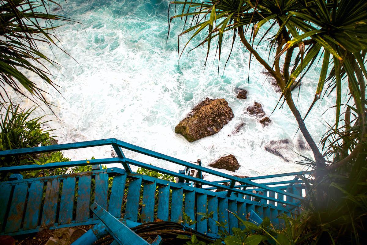
[[[150,169],[156,172],[169,174],[171,176],[179,177],[182,179],[185,179],[187,181],[193,181],[196,183],[201,183],[204,185],[211,186],[213,189],[224,189],[227,190],[227,195],[230,196],[232,192],[235,192],[237,194],[246,194],[250,195],[252,197],[258,197],[267,199],[269,201],[273,202],[280,202],[284,203],[286,205],[291,206],[297,206],[298,203],[295,202],[287,202],[279,199],[275,199],[272,197],[264,197],[259,194],[255,194],[246,190],[237,189],[239,187],[257,187],[262,190],[266,191],[272,191],[277,192],[278,194],[288,196],[290,198],[295,199],[302,199],[299,195],[295,195],[289,192],[284,192],[283,190],[279,188],[269,187],[265,184],[259,184],[255,183],[251,180],[255,179],[266,179],[266,178],[273,178],[273,177],[281,177],[281,176],[292,176],[292,175],[300,175],[300,174],[310,174],[311,172],[295,172],[295,173],[285,173],[285,174],[273,174],[269,176],[261,176],[261,177],[251,177],[251,178],[239,178],[235,176],[231,176],[229,174],[225,174],[222,172],[218,172],[216,170],[208,169],[206,167],[196,165],[190,162],[182,161],[180,159],[161,154],[159,152],[155,152],[149,149],[145,149],[136,145],[132,145],[130,143],[126,143],[121,140],[117,140],[116,138],[109,138],[104,140],[93,140],[93,141],[84,141],[84,142],[77,142],[77,143],[67,143],[67,144],[59,144],[59,145],[48,145],[48,146],[41,146],[41,147],[33,147],[33,148],[22,148],[22,149],[12,149],[12,150],[6,150],[6,151],[0,151],[0,157],[3,156],[11,156],[11,155],[20,155],[20,154],[34,154],[34,153],[41,153],[41,152],[51,152],[51,151],[62,151],[62,150],[68,150],[68,149],[80,149],[80,148],[87,148],[87,147],[97,147],[102,145],[112,145],[113,149],[115,150],[117,154],[117,158],[104,158],[104,159],[90,159],[90,160],[81,160],[81,161],[70,161],[70,162],[55,162],[55,163],[47,163],[45,165],[21,165],[21,166],[11,166],[11,167],[0,167],[0,172],[19,172],[19,171],[25,171],[25,170],[36,170],[36,169],[52,169],[52,168],[58,168],[58,167],[72,167],[72,166],[86,166],[86,165],[96,165],[96,164],[108,164],[108,163],[121,163],[124,166],[124,169],[127,173],[131,172],[130,164],[138,167],[143,167],[146,169]],[[134,152],[138,152],[140,154],[152,156],[157,159],[163,159],[168,162],[176,163],[178,165],[185,166],[187,168],[191,169],[197,169],[201,172],[205,172],[208,174],[212,174],[215,176],[226,178],[226,182],[230,182],[230,185],[222,185],[220,183],[225,183],[222,181],[207,181],[203,179],[196,178],[195,176],[189,176],[186,174],[176,173],[167,169],[163,169],[157,166],[149,165],[143,162],[139,162],[130,158],[126,158],[126,156],[123,154],[123,151],[121,148],[128,149]],[[239,182],[244,184],[243,186],[235,186],[235,183]]]

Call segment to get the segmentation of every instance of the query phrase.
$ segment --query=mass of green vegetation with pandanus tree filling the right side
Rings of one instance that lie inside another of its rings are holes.
[[[312,149],[314,159],[301,162],[316,169],[312,177],[303,178],[308,188],[304,212],[295,219],[284,217],[290,244],[365,244],[367,2],[209,0],[171,4],[179,13],[170,22],[180,18],[183,23],[179,39],[189,35],[189,43],[203,37],[205,64],[213,46],[220,60],[222,44],[230,42],[233,49],[239,37],[250,53],[250,65],[255,58],[276,80],[282,90],[278,105],[288,105]],[[257,47],[267,38],[269,56],[262,57]],[[312,83],[314,100],[301,115],[294,102],[294,85],[319,62],[319,79]],[[329,130],[317,145],[305,119],[316,102],[330,94],[335,97],[330,107],[335,108],[336,117],[328,122]]]

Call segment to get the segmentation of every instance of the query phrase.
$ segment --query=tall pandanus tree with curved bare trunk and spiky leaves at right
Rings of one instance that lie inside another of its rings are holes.
[[[215,40],[220,60],[223,42],[232,42],[233,48],[239,38],[250,53],[250,62],[255,58],[275,78],[282,90],[279,101],[286,102],[312,149],[315,176],[324,176],[328,170],[352,161],[365,151],[367,1],[211,0],[171,4],[181,6],[180,13],[170,18],[170,23],[174,18],[184,21],[178,38],[190,35],[183,50],[199,33],[206,33],[200,43],[207,45],[206,59]],[[265,34],[258,36],[261,28],[266,28],[262,32]],[[257,45],[265,42],[269,33],[275,33],[269,38],[272,62],[257,52]],[[227,35],[232,40],[225,38]],[[293,100],[294,85],[320,60],[319,80],[313,83],[315,98],[308,112],[301,115]],[[342,89],[343,81],[348,83],[349,92]],[[323,137],[323,154],[307,130],[305,119],[325,94],[335,95],[336,118]],[[348,104],[342,105],[341,98],[345,95],[349,96]],[[339,123],[343,113],[344,122]]]

